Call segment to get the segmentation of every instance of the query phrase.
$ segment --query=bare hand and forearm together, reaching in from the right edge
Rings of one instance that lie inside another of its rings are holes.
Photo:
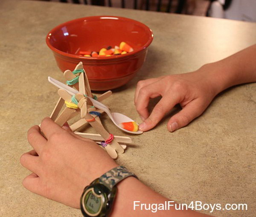
[[[256,82],[256,44],[215,63],[206,64],[195,72],[168,75],[139,81],[134,103],[142,119],[142,131],[152,129],[176,104],[182,110],[172,116],[167,129],[184,127],[200,116],[221,91],[237,84]],[[163,98],[148,114],[150,98]]]

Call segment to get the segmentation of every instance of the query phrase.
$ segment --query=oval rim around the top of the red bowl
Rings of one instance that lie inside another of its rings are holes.
[[[148,41],[142,46],[140,47],[139,49],[136,50],[136,52],[129,52],[127,54],[123,54],[123,55],[113,55],[113,56],[102,56],[102,57],[84,57],[84,56],[80,56],[80,55],[76,55],[76,54],[70,54],[70,53],[66,53],[66,52],[63,52],[61,50],[58,50],[56,49],[54,46],[51,45],[51,43],[49,42],[49,37],[51,36],[52,32],[56,31],[57,29],[60,29],[62,26],[64,25],[67,25],[67,24],[70,24],[70,23],[73,23],[73,22],[76,22],[77,20],[83,20],[83,19],[95,19],[95,18],[101,18],[101,17],[113,17],[114,19],[115,18],[118,18],[119,20],[129,20],[129,21],[132,21],[132,22],[135,22],[137,23],[138,25],[140,26],[143,26],[144,29],[146,29],[150,35]],[[69,20],[65,23],[61,23],[59,24],[58,26],[55,26],[53,29],[51,29],[48,33],[47,33],[47,36],[46,36],[46,43],[47,43],[47,46],[53,51],[53,52],[57,52],[58,54],[60,55],[64,55],[64,56],[67,56],[67,57],[70,57],[70,58],[79,58],[80,60],[97,60],[97,61],[100,61],[100,60],[110,60],[110,59],[115,59],[115,58],[127,58],[129,55],[134,55],[134,54],[137,54],[138,52],[146,49],[150,44],[151,42],[153,41],[153,38],[154,38],[154,35],[153,35],[153,32],[152,30],[146,26],[144,23],[141,23],[140,21],[137,21],[137,20],[133,20],[133,19],[130,19],[130,18],[127,18],[127,17],[119,17],[119,16],[111,16],[111,15],[100,15],[100,16],[89,16],[89,17],[80,17],[80,18],[77,18],[77,19],[74,19],[74,20]]]

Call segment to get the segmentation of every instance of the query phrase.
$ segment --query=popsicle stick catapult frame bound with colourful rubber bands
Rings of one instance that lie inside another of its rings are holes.
[[[89,96],[97,101],[102,101],[105,98],[108,98],[112,92],[107,91],[98,98],[96,95],[93,95],[82,62],[76,66],[73,72],[66,70],[64,72],[64,78],[66,79],[67,84],[70,85],[70,87],[78,89],[79,93],[70,95],[66,90],[59,89],[58,95],[60,98],[50,115],[51,119],[58,125],[63,126],[68,120],[80,115],[81,119],[70,126],[71,130],[84,138],[93,139],[95,141],[104,140],[100,142],[100,144],[113,159],[116,159],[117,152],[124,153],[126,148],[126,145],[120,145],[119,142],[131,143],[131,138],[127,136],[113,136],[113,134],[108,133],[99,119],[99,116],[104,111],[93,107],[90,99],[85,97]],[[60,113],[64,104],[64,110]],[[80,133],[76,131],[86,124],[90,124],[99,134]]]

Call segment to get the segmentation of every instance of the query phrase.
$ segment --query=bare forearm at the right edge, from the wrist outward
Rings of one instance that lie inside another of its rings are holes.
[[[217,93],[237,84],[256,82],[256,44],[198,71],[207,71]]]

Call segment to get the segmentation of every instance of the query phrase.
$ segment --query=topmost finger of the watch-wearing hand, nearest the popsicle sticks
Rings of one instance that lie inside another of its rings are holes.
[[[64,132],[63,129],[58,124],[55,124],[49,117],[44,118],[41,122],[41,130],[47,139],[54,133]]]

